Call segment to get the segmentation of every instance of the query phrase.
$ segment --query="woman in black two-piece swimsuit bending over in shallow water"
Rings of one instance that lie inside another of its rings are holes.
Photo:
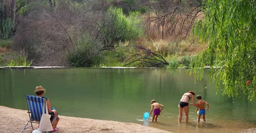
[[[181,122],[181,120],[182,120],[183,109],[184,109],[184,112],[186,115],[186,123],[188,122],[188,111],[189,111],[188,104],[196,106],[194,96],[195,96],[195,92],[189,91],[187,93],[184,93],[182,98],[180,99],[180,103],[178,105],[179,110],[180,110],[179,122]],[[193,104],[189,103],[190,99],[192,99]]]

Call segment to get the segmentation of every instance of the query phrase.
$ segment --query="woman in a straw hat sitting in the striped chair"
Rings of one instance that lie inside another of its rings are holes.
[[[35,90],[35,93],[38,97],[42,97],[42,98],[45,98],[44,97],[44,93],[45,93],[45,89],[40,85],[40,86],[36,86],[36,90]],[[48,112],[49,112],[49,115],[52,115],[50,120],[52,121],[53,118],[56,118],[57,117],[57,111],[54,109],[52,110],[52,107],[51,107],[51,104],[50,104],[50,100],[45,98],[47,100],[47,107],[48,107]],[[57,131],[58,129],[56,128],[56,121],[53,122],[52,124],[52,132],[54,131]]]

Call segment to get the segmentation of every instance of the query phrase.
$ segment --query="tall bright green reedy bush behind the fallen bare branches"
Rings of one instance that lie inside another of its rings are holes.
[[[109,8],[107,26],[103,28],[103,36],[109,43],[112,41],[129,41],[143,35],[144,27],[138,18],[138,11],[131,11],[126,17],[122,8]],[[99,23],[99,26],[102,26]]]

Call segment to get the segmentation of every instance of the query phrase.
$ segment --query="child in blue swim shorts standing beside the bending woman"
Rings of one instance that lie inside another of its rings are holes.
[[[197,95],[196,99],[198,101],[196,103],[196,105],[197,105],[196,112],[199,109],[199,111],[197,112],[197,114],[198,114],[197,122],[198,123],[200,122],[201,115],[203,115],[203,121],[205,122],[205,110],[209,110],[209,104],[206,101],[202,100],[202,97],[200,95]],[[204,107],[205,104],[207,105],[207,109],[205,109],[205,107]]]

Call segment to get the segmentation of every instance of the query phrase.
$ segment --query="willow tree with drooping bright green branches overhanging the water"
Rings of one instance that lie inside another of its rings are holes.
[[[211,78],[224,85],[223,94],[256,96],[256,1],[208,0],[205,16],[194,26],[200,41],[209,42],[193,64],[196,77],[210,65]],[[214,69],[219,67],[219,69]],[[202,74],[201,74],[202,75]]]

